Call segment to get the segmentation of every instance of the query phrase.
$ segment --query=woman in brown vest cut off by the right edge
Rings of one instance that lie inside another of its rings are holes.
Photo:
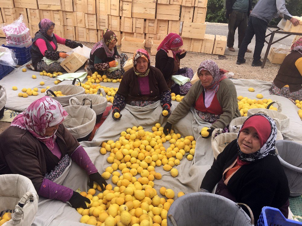
[[[282,62],[270,94],[302,101],[302,38],[291,46],[291,53]]]

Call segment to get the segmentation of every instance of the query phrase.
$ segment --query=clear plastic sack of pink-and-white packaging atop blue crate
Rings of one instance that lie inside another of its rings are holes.
[[[6,45],[14,47],[31,46],[32,40],[28,27],[23,23],[23,15],[18,20],[1,28],[6,36]]]

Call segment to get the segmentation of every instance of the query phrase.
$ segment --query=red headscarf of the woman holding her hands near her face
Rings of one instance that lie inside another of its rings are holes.
[[[174,48],[179,48],[183,46],[182,37],[175,33],[168,34],[165,39],[159,44],[157,51],[160,49],[165,50],[165,52],[168,52],[168,50],[171,50],[173,53],[173,57],[176,60],[176,54],[180,53],[182,50],[173,51]]]

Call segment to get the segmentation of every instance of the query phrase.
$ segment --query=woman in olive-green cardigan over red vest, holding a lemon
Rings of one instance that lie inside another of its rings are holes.
[[[164,133],[170,133],[172,125],[188,114],[191,107],[198,120],[211,123],[207,131],[211,136],[215,128],[224,129],[233,118],[240,116],[237,104],[237,92],[234,83],[224,75],[226,71],[219,69],[211,60],[201,62],[197,74],[200,80],[194,83],[187,95],[182,99],[164,127]]]

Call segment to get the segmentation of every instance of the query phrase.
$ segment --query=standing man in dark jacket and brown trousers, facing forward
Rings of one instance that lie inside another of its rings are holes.
[[[252,11],[252,0],[226,0],[226,18],[229,19],[229,33],[226,46],[235,52],[234,36],[238,27],[238,48],[245,36],[247,19]],[[246,52],[252,52],[247,49]]]

